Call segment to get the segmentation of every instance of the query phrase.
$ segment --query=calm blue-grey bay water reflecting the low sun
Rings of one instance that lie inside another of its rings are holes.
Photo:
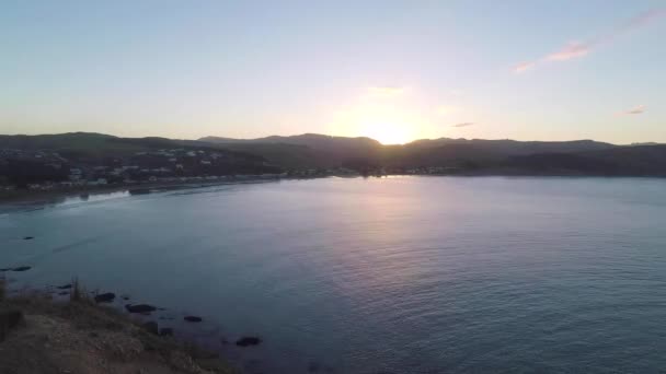
[[[13,288],[76,276],[162,306],[160,325],[249,373],[666,371],[666,179],[326,178],[4,204],[12,266],[33,267],[5,273]],[[262,344],[233,344],[246,335]]]

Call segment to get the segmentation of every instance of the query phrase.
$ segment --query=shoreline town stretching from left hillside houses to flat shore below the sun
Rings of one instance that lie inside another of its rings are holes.
[[[254,155],[185,148],[127,156],[66,157],[46,150],[0,150],[0,189],[80,190],[111,186],[216,183],[248,179],[388,175],[441,175],[452,167],[398,168],[366,165],[283,170]]]

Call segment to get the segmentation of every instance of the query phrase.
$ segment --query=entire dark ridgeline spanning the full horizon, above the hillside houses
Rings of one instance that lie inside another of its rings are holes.
[[[400,173],[438,168],[463,175],[623,175],[666,176],[666,144],[617,145],[594,140],[516,141],[426,139],[383,145],[370,138],[305,133],[291,137],[198,140],[118,138],[74,132],[45,136],[0,136],[0,150],[47,149],[79,160],[101,160],[146,150],[186,148],[217,150],[248,162],[282,170],[351,167]]]

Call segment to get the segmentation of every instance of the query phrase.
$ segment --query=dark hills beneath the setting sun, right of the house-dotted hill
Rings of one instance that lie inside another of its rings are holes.
[[[284,167],[445,167],[461,174],[666,176],[666,144],[656,143],[440,138],[382,145],[368,138],[312,133],[251,140],[206,137],[199,141],[261,154]],[[276,154],[284,155],[277,147],[289,149],[290,160],[276,159]],[[291,160],[299,162],[290,164]]]

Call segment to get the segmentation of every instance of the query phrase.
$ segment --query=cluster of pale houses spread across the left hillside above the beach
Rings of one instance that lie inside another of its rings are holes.
[[[232,152],[161,149],[124,156],[62,156],[56,152],[0,150],[2,189],[32,190],[218,180],[243,175],[275,177],[279,170]]]

